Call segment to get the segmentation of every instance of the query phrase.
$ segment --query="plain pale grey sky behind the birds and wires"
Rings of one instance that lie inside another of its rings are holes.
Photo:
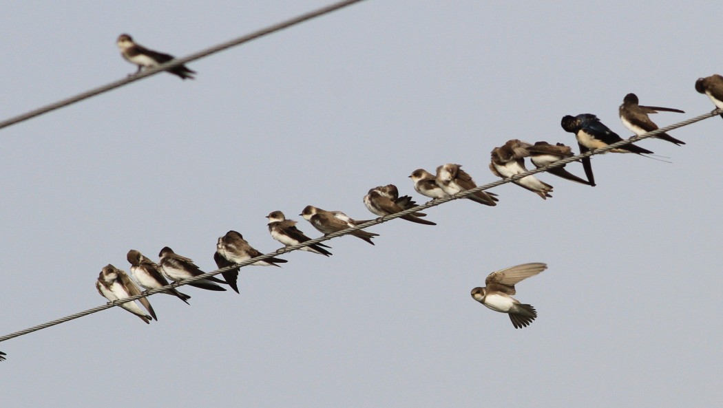
[[[4,7],[0,116],[134,71],[121,32],[185,56],[326,1],[27,2]],[[713,109],[723,74],[714,2],[366,1],[0,131],[0,335],[105,302],[95,279],[163,246],[215,269],[238,230],[278,248],[265,215],[307,204],[371,218],[361,199],[461,163],[495,180],[512,138],[575,144],[566,114],[630,136],[628,92],[669,106],[661,126]],[[455,201],[437,226],[395,220],[370,246],[330,241],[250,267],[241,295],[184,288],[0,343],[4,407],[715,407],[723,402],[719,118],[687,144],[595,157],[598,186],[552,175],[495,208]],[[582,174],[578,164],[568,169]],[[292,217],[293,216],[293,217]],[[515,330],[469,291],[525,262],[539,317]]]

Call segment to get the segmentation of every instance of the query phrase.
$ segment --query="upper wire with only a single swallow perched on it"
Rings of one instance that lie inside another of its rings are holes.
[[[226,41],[226,43],[214,45],[213,47],[206,48],[205,50],[198,51],[197,53],[192,53],[191,55],[186,56],[184,58],[176,58],[173,61],[168,61],[166,64],[161,64],[161,65],[156,66],[151,69],[145,69],[145,70],[141,71],[139,74],[135,74],[135,75],[132,75],[132,76],[124,78],[124,79],[119,79],[118,81],[111,82],[109,84],[103,85],[102,87],[97,87],[93,90],[82,92],[78,95],[69,97],[67,99],[59,100],[56,103],[51,103],[50,105],[43,106],[42,108],[31,110],[30,112],[23,113],[22,115],[14,116],[13,118],[6,119],[5,121],[0,122],[0,129],[6,128],[7,126],[14,125],[15,123],[27,121],[30,118],[35,118],[35,116],[43,115],[43,113],[48,113],[48,112],[51,112],[52,110],[64,108],[65,106],[72,105],[73,103],[80,102],[81,100],[86,100],[90,97],[94,97],[95,95],[100,95],[100,94],[102,94],[104,92],[108,92],[110,90],[114,90],[118,87],[122,87],[124,85],[130,84],[131,82],[140,81],[140,79],[144,79],[146,77],[150,77],[151,75],[158,74],[158,72],[165,71],[166,69],[172,68],[174,66],[179,66],[179,65],[186,64],[188,62],[203,58],[205,56],[210,56],[213,53],[218,53],[219,51],[223,51],[228,48],[235,47],[236,45],[241,45],[243,43],[247,43],[251,40],[261,38],[261,37],[263,37],[265,35],[269,35],[273,32],[281,31],[285,28],[291,27],[293,25],[297,25],[297,24],[299,24],[301,22],[305,22],[309,19],[314,19],[315,17],[320,17],[324,14],[328,14],[330,12],[335,12],[338,9],[343,9],[346,6],[351,6],[351,4],[359,3],[361,1],[364,1],[364,0],[339,1],[338,3],[324,6],[320,9],[316,9],[312,12],[300,14],[297,17],[287,19],[286,21],[279,22],[275,25],[270,25],[269,27],[262,28],[261,30],[254,31],[250,34],[244,35],[244,36],[236,38],[234,40]]]

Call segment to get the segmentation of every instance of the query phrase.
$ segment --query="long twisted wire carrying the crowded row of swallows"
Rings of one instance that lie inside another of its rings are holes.
[[[510,177],[510,178],[504,178],[504,179],[501,179],[498,181],[493,181],[492,183],[487,183],[487,184],[484,184],[483,186],[478,186],[476,188],[471,188],[466,191],[461,191],[458,194],[455,194],[455,195],[449,196],[449,197],[445,197],[443,199],[433,199],[433,200],[428,201],[427,203],[420,204],[416,207],[412,207],[410,209],[406,209],[401,212],[396,212],[395,214],[386,215],[385,217],[379,217],[375,220],[369,220],[362,224],[356,225],[355,227],[346,228],[346,230],[337,231],[337,232],[331,233],[329,235],[324,235],[319,238],[307,240],[306,242],[300,243],[298,245],[285,246],[285,247],[279,248],[276,251],[273,251],[270,253],[265,253],[261,256],[257,256],[256,258],[248,259],[247,261],[243,261],[239,264],[235,264],[232,266],[226,266],[225,268],[216,269],[213,272],[207,272],[207,273],[199,275],[197,277],[192,277],[189,279],[184,279],[182,281],[174,282],[171,285],[159,287],[158,289],[147,290],[145,292],[142,292],[140,295],[135,295],[135,296],[131,296],[129,298],[123,298],[123,299],[119,299],[119,300],[114,300],[113,302],[109,302],[109,303],[106,303],[105,305],[100,305],[95,308],[87,309],[86,311],[74,313],[72,315],[65,316],[63,318],[58,318],[54,321],[48,321],[47,323],[44,323],[44,324],[38,324],[38,326],[33,326],[28,329],[15,331],[14,333],[6,334],[6,335],[0,337],[0,342],[4,342],[5,340],[13,339],[14,337],[20,337],[25,334],[32,333],[33,331],[47,329],[48,327],[55,326],[56,324],[65,323],[67,321],[71,321],[76,318],[80,318],[80,317],[87,316],[87,315],[90,315],[93,313],[97,313],[99,311],[104,311],[108,308],[113,308],[114,306],[122,305],[123,303],[132,302],[132,301],[138,300],[140,298],[147,298],[150,295],[155,295],[156,293],[165,292],[166,290],[170,289],[171,287],[179,287],[179,286],[183,286],[183,285],[188,285],[189,283],[196,282],[198,280],[205,279],[208,277],[213,277],[213,276],[221,274],[223,272],[230,271],[231,269],[248,266],[250,264],[256,263],[257,261],[263,261],[265,259],[272,258],[273,256],[279,256],[284,253],[298,251],[301,248],[305,248],[307,246],[312,246],[316,243],[321,243],[326,240],[331,240],[334,238],[342,237],[344,235],[351,234],[357,230],[363,230],[364,228],[372,227],[373,225],[382,224],[383,222],[388,222],[388,221],[394,220],[395,218],[403,217],[406,214],[411,214],[413,212],[419,212],[419,211],[422,211],[422,210],[430,208],[430,207],[436,207],[438,205],[445,204],[452,200],[463,199],[466,196],[476,193],[477,191],[488,190],[489,188],[492,188],[492,187],[502,186],[502,184],[512,183],[513,181],[517,181],[521,178],[525,178],[528,175],[542,173],[542,172],[545,172],[545,171],[553,169],[553,168],[559,168],[559,167],[562,167],[563,165],[568,164],[569,162],[576,162],[578,160],[581,160],[583,157],[590,157],[593,155],[601,155],[602,153],[608,152],[609,150],[612,150],[612,149],[617,149],[617,147],[624,146],[625,144],[638,142],[638,140],[648,139],[649,137],[654,137],[658,134],[662,134],[664,132],[671,131],[673,129],[677,129],[677,128],[680,128],[683,126],[688,126],[691,123],[696,123],[698,121],[702,121],[703,119],[711,118],[712,116],[717,116],[721,113],[723,113],[723,109],[716,109],[716,110],[713,110],[712,112],[704,113],[701,116],[696,116],[695,118],[690,118],[690,119],[682,121],[682,122],[674,123],[670,126],[665,126],[664,128],[656,129],[654,131],[648,132],[646,134],[642,134],[640,136],[633,136],[633,137],[630,137],[630,139],[624,139],[624,140],[621,140],[620,142],[609,144],[608,146],[603,147],[602,149],[594,149],[589,152],[585,152],[581,155],[575,155],[575,156],[568,157],[568,158],[565,158],[562,160],[557,160],[556,162],[553,162],[553,163],[545,166],[544,168],[536,168],[534,170],[526,171],[525,173],[514,175],[513,177]]]

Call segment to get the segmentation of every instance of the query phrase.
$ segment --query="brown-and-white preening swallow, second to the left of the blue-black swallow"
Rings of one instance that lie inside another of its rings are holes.
[[[497,175],[499,178],[510,178],[513,175],[526,173],[525,157],[529,157],[530,155],[526,147],[529,146],[529,143],[512,139],[502,147],[495,147],[492,149],[492,160],[489,163],[489,170],[492,170],[492,174]],[[536,178],[534,175],[528,175],[519,180],[515,180],[513,183],[541,196],[543,200],[546,200],[547,197],[552,197],[550,195],[552,186],[540,181],[539,178]]]

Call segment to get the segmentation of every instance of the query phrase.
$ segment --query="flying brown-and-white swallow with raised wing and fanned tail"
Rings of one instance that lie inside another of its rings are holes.
[[[522,264],[492,272],[484,280],[485,287],[475,287],[472,290],[472,298],[493,311],[508,313],[515,329],[526,327],[537,317],[537,312],[532,305],[520,303],[510,295],[515,295],[517,282],[545,269],[546,264]]]

